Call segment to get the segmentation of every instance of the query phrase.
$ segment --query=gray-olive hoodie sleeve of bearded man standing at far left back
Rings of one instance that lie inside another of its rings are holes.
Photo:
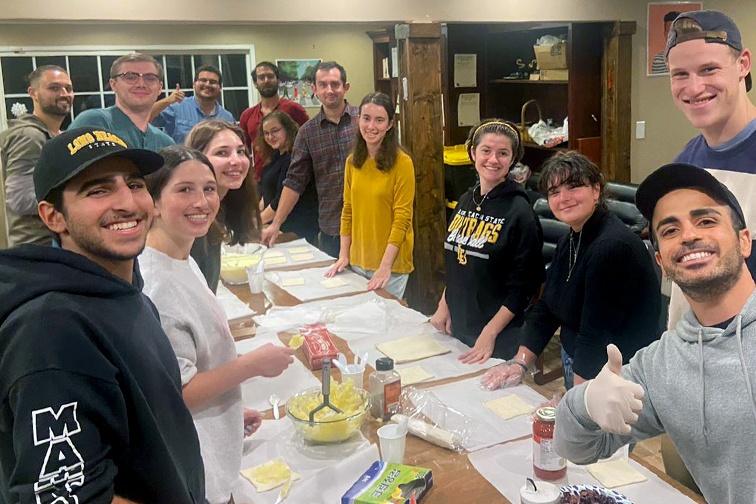
[[[8,138],[3,156],[5,204],[16,215],[37,215],[32,174],[45,141],[45,134],[34,127],[20,128]]]

